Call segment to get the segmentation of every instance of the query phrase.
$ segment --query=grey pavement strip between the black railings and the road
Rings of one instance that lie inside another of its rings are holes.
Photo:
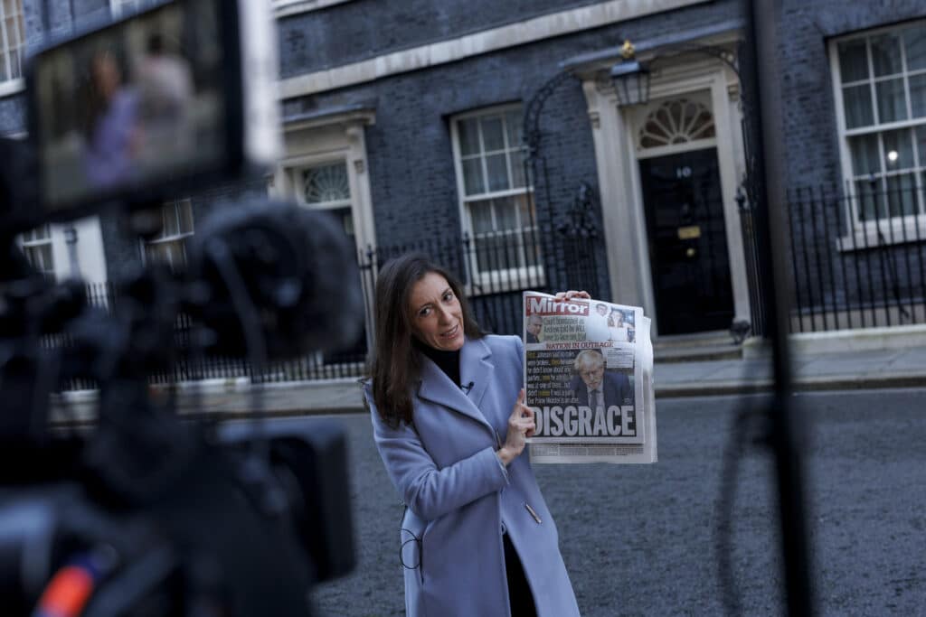
[[[789,355],[795,391],[926,387],[926,327],[895,327],[887,335],[870,328],[851,336],[793,336]],[[657,350],[653,385],[657,399],[769,392],[774,389],[771,352],[759,340],[742,347],[714,345],[707,352],[704,347]],[[246,379],[181,383],[177,390],[185,413],[236,417],[255,408]],[[263,413],[283,416],[364,411],[357,378],[265,384],[259,405]],[[61,421],[92,421],[96,392],[66,392],[53,398],[53,408]]]

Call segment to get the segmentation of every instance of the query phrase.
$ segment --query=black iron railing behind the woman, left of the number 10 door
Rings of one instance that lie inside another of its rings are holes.
[[[176,361],[169,372],[152,375],[150,380],[154,384],[163,384],[243,378],[266,383],[361,376],[373,328],[377,273],[389,259],[408,252],[427,254],[432,261],[443,265],[463,281],[469,305],[483,329],[497,334],[519,334],[522,290],[548,290],[551,279],[555,279],[555,285],[569,285],[575,289],[596,288],[597,268],[594,257],[589,253],[593,250],[589,238],[557,233],[555,241],[547,239],[541,247],[539,236],[535,228],[527,228],[483,234],[475,239],[464,234],[462,237],[431,239],[375,250],[369,248],[357,258],[359,276],[356,284],[363,294],[366,309],[364,327],[357,340],[342,350],[313,352],[285,362],[271,363],[259,374],[246,360],[196,353],[190,341],[197,326],[188,315],[178,315],[173,341],[178,350]],[[569,258],[569,264],[563,265],[563,256]],[[544,265],[549,263],[563,267],[553,276],[549,266]],[[586,277],[587,284],[582,280]],[[108,311],[119,310],[118,286],[112,283],[89,284],[86,290],[90,304]],[[46,338],[45,344],[61,347],[69,345],[69,340],[59,335]],[[95,386],[92,381],[74,379],[60,387],[94,389]]]

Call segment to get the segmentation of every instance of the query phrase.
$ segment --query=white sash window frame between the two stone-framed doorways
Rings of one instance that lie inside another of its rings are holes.
[[[460,221],[463,224],[463,232],[469,236],[470,242],[472,242],[470,250],[475,250],[476,234],[473,231],[472,216],[469,210],[470,202],[484,202],[496,198],[505,198],[523,195],[525,199],[529,200],[529,203],[534,208],[534,221],[533,221],[533,240],[536,244],[538,264],[535,265],[520,265],[513,268],[506,268],[501,270],[482,270],[478,262],[473,263],[470,261],[469,267],[471,267],[471,280],[467,285],[467,292],[469,295],[481,295],[483,293],[498,293],[505,291],[515,291],[515,290],[524,290],[528,287],[536,287],[544,285],[544,266],[543,266],[543,254],[541,254],[540,249],[540,229],[537,224],[536,219],[536,206],[533,201],[533,185],[531,182],[531,174],[527,173],[524,179],[524,186],[518,188],[507,189],[506,191],[489,191],[478,193],[476,195],[467,195],[466,194],[466,184],[463,177],[463,155],[460,148],[460,136],[459,136],[459,123],[463,120],[468,120],[474,117],[487,117],[494,116],[496,114],[503,115],[506,112],[512,110],[523,110],[524,106],[520,103],[508,104],[508,105],[494,105],[491,107],[482,107],[477,110],[469,111],[464,114],[459,114],[450,118],[450,134],[451,142],[453,145],[453,154],[454,154],[454,169],[457,173],[457,196],[458,196],[458,206],[459,206],[459,216]],[[506,147],[505,151],[509,152],[515,147],[519,147],[520,144],[511,144],[507,143],[508,141],[508,131],[507,127],[503,130],[505,135]],[[481,151],[481,156],[484,158],[484,151]],[[484,162],[483,162],[484,165]],[[483,168],[483,172],[486,170]],[[509,179],[511,178],[512,170],[508,169]],[[509,182],[512,184],[512,182]],[[530,227],[522,227],[519,229],[519,233],[523,234],[529,233],[531,230]],[[469,258],[469,255],[468,255]]]

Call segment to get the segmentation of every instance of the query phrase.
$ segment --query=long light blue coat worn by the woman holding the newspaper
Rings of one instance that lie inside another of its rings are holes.
[[[458,388],[428,358],[414,393],[414,426],[382,422],[367,386],[382,462],[408,508],[402,522],[408,617],[506,617],[502,530],[518,550],[538,617],[579,615],[557,525],[527,450],[507,467],[495,450],[523,382],[518,337],[467,339]],[[529,504],[537,519],[525,504]]]

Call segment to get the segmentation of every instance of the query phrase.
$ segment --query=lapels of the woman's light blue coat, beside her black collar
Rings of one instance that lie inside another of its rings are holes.
[[[425,356],[421,366],[419,397],[467,415],[494,434],[494,429],[479,410],[493,368],[489,362],[491,356],[492,352],[482,340],[467,339],[463,345],[460,350],[460,381],[464,385],[472,383],[468,393],[464,393],[431,358]]]

